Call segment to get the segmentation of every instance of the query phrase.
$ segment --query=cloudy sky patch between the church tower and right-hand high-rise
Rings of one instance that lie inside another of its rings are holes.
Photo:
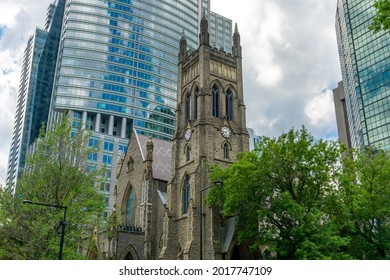
[[[278,136],[304,125],[337,137],[331,89],[341,80],[334,28],[337,0],[212,0],[238,23],[247,125]]]

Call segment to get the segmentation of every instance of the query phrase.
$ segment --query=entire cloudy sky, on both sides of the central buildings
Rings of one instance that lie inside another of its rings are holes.
[[[334,29],[337,0],[211,0],[238,23],[247,125],[278,136],[305,125],[336,139],[332,89],[341,79]],[[52,0],[0,1],[0,182],[11,143],[23,51]],[[237,5],[239,3],[239,5]]]

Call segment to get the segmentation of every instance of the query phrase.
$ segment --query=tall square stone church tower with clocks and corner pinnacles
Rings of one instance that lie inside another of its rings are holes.
[[[223,259],[232,242],[231,236],[224,238],[226,223],[223,227],[218,209],[200,203],[214,185],[209,180],[210,164],[228,166],[249,146],[237,25],[232,54],[227,54],[209,45],[203,17],[198,50],[189,54],[183,35],[178,67],[172,176],[159,258]]]

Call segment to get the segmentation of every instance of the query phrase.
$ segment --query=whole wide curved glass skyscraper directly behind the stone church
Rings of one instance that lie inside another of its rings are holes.
[[[203,14],[216,16],[209,0],[65,1],[45,122],[51,127],[66,112],[74,130],[92,132],[89,145],[100,149],[89,156],[87,170],[106,165],[101,190],[109,209],[117,161],[133,129],[165,140],[174,133],[177,41],[184,33],[189,49],[196,48]],[[231,46],[230,20],[217,21],[211,31],[216,48]]]

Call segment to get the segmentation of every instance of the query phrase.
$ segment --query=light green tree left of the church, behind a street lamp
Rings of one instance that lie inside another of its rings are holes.
[[[104,209],[96,189],[97,171],[86,172],[89,135],[71,137],[66,116],[36,141],[15,194],[0,191],[0,259],[57,259],[63,210],[23,204],[23,200],[67,206],[64,259],[78,259],[81,236],[92,230]],[[96,151],[95,151],[96,152]]]

